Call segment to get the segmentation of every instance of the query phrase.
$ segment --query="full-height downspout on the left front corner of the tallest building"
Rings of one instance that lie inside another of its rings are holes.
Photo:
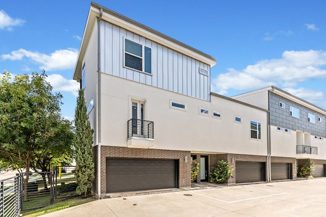
[[[100,8],[100,15],[97,18],[97,75],[98,75],[98,94],[97,94],[97,141],[98,141],[98,156],[97,156],[97,193],[98,198],[101,198],[101,18],[103,9]]]

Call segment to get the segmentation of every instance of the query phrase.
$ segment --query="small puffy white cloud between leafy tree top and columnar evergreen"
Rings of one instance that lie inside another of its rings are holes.
[[[51,84],[53,91],[71,92],[75,97],[78,96],[79,83],[75,80],[68,80],[59,74],[48,75],[46,81]]]

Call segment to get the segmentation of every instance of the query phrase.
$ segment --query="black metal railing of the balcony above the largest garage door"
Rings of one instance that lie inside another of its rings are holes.
[[[154,122],[133,118],[128,120],[128,138],[130,137],[154,139]]]

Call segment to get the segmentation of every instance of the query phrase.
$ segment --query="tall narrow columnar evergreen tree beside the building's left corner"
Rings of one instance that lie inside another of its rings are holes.
[[[87,109],[85,104],[84,90],[78,92],[77,105],[75,109],[75,160],[76,160],[76,182],[78,187],[77,194],[87,197],[92,180],[94,179],[94,162],[93,162],[93,130],[87,120]]]

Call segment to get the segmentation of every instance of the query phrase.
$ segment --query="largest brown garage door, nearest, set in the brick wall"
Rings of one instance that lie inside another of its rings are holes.
[[[106,192],[178,188],[178,162],[161,159],[106,159]]]

